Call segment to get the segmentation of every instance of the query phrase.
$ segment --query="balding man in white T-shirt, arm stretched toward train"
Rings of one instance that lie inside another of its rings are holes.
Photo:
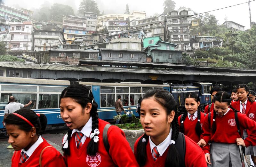
[[[15,98],[13,96],[9,97],[9,104],[5,106],[4,108],[4,119],[7,117],[8,114],[14,113],[15,111],[19,110],[20,108],[23,107],[28,107],[32,101],[29,101],[28,104],[21,104],[21,103],[16,103],[14,102]],[[3,120],[3,125],[4,125],[4,120]],[[12,145],[10,144],[7,148],[13,148]]]

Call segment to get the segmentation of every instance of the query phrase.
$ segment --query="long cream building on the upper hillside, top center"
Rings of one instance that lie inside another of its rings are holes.
[[[130,20],[145,19],[145,12],[134,11],[132,14],[107,14],[97,17],[97,33],[102,33],[103,27],[107,27],[109,32],[116,32],[127,29]]]

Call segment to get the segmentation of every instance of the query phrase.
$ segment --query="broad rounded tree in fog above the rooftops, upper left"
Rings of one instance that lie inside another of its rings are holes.
[[[63,15],[74,15],[74,10],[71,6],[64,4],[53,4],[51,8],[52,20],[62,22]]]

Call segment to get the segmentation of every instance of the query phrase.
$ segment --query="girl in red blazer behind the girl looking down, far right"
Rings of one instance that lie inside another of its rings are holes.
[[[249,97],[249,87],[246,84],[236,86],[238,100],[231,104],[236,110],[247,115],[248,118],[256,121],[256,102]],[[244,139],[251,134],[250,130],[244,131]],[[251,155],[253,163],[256,165],[256,146],[246,147],[245,154]],[[251,163],[252,163],[251,161]]]

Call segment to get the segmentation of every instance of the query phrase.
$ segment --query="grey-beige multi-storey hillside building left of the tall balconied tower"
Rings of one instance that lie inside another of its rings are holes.
[[[130,20],[130,28],[143,28],[146,37],[160,36],[165,40],[164,28],[165,28],[165,17],[167,14],[161,14],[156,17],[151,17],[142,20]]]

